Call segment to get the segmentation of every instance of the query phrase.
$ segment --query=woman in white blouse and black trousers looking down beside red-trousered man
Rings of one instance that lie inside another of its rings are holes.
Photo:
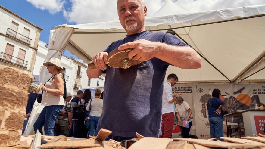
[[[186,127],[180,127],[181,129],[181,136],[182,138],[189,138],[189,131],[192,126],[192,119],[190,118],[192,114],[192,110],[189,107],[189,104],[183,100],[183,98],[180,96],[177,98],[177,105],[176,105],[176,116],[178,117],[178,120],[187,120],[189,121],[189,128]]]

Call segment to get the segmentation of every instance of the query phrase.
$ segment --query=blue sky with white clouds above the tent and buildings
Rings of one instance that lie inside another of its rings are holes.
[[[151,17],[167,0],[145,0]],[[265,0],[171,0],[188,12],[265,4]],[[33,24],[42,27],[40,44],[48,43],[51,27],[118,20],[116,0],[2,0],[8,8]],[[25,11],[25,9],[27,11]]]

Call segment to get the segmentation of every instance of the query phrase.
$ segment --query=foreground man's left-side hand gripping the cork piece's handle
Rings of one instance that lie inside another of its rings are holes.
[[[99,52],[93,57],[93,62],[98,69],[102,71],[107,69],[107,56],[108,52]]]

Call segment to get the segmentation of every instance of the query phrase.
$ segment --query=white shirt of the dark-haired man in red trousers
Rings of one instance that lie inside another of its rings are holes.
[[[171,101],[172,99],[173,97],[172,97],[171,84],[165,81],[163,89],[162,114],[171,113],[171,112],[175,113],[174,102],[169,103],[169,101]]]

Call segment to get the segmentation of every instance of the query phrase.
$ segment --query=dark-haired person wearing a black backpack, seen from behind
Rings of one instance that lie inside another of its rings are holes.
[[[77,120],[77,126],[78,126],[78,132],[77,137],[78,138],[87,138],[87,132],[88,129],[85,128],[85,114],[86,114],[86,107],[91,99],[91,91],[89,89],[86,89],[84,91],[83,96],[78,101],[78,107],[76,109],[76,114],[78,117]]]

